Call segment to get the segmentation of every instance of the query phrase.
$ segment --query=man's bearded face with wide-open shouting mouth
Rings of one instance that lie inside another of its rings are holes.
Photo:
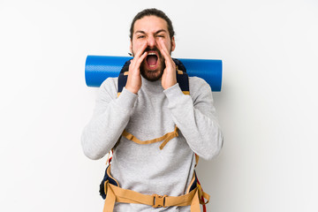
[[[162,77],[165,68],[164,57],[159,50],[158,42],[162,40],[164,46],[171,53],[176,47],[174,37],[170,39],[167,22],[156,16],[145,16],[136,20],[133,26],[133,40],[130,49],[133,56],[143,43],[147,43],[148,56],[140,64],[140,73],[149,81]]]

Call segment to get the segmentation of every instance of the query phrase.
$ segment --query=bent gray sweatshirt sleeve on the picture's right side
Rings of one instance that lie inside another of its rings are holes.
[[[164,90],[168,108],[180,132],[193,152],[206,160],[216,156],[223,147],[223,133],[216,117],[212,91],[200,78],[189,78],[190,94],[178,86]]]

